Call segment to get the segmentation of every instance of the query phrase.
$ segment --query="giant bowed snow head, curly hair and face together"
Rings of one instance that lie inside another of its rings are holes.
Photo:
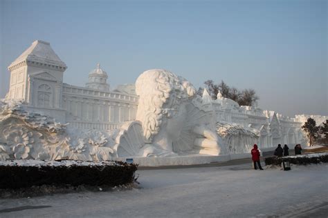
[[[147,141],[158,141],[165,150],[172,150],[165,138],[170,141],[179,137],[186,116],[184,105],[195,93],[188,81],[172,72],[143,72],[136,81],[136,94],[140,97],[136,119],[143,123]]]

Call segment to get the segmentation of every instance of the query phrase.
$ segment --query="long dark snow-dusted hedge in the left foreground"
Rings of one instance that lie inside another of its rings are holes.
[[[0,188],[26,188],[31,186],[120,186],[134,181],[138,165],[120,161],[79,164],[41,164],[24,166],[0,165]]]

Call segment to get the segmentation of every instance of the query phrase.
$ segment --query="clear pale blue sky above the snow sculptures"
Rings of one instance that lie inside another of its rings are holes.
[[[254,88],[259,106],[328,115],[327,1],[3,1],[0,97],[7,67],[36,39],[84,86],[100,62],[111,87],[149,68]]]

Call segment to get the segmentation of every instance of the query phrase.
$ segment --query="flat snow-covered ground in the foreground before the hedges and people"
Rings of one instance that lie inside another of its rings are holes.
[[[264,165],[264,163],[262,163]],[[0,217],[327,217],[328,164],[138,170],[140,189],[0,199]]]

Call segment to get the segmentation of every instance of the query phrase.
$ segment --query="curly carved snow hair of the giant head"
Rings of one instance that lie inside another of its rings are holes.
[[[196,90],[182,77],[161,69],[147,70],[136,81],[139,105],[136,119],[143,123],[143,135],[148,141],[156,135],[162,121],[172,118],[181,103],[194,97]]]

